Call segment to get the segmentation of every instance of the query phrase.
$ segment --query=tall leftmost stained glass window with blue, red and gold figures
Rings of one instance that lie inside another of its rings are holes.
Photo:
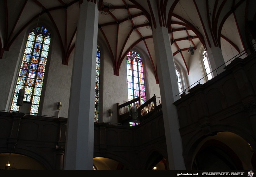
[[[28,34],[10,111],[19,111],[18,93],[25,89],[23,101],[31,103],[31,115],[38,114],[50,42],[50,33],[44,26],[38,26]]]

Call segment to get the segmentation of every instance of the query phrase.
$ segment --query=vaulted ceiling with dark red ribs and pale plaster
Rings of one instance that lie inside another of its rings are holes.
[[[75,47],[81,0],[1,0],[0,58],[14,45],[27,26],[50,24],[62,50],[62,64],[68,64]],[[252,4],[252,2],[251,2]],[[237,23],[245,23],[250,3],[245,0],[99,0],[98,38],[104,41],[114,66],[114,74],[133,47],[143,50],[150,60],[157,81],[152,28],[168,28],[174,60],[189,74],[189,47],[203,44],[231,46],[244,50]],[[245,9],[237,19],[235,9]],[[210,33],[211,32],[211,33]],[[220,42],[220,39],[226,42]]]

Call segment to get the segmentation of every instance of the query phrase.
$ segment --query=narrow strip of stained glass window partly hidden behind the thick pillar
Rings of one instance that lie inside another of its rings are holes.
[[[99,120],[100,55],[100,47],[97,45],[94,122],[98,122]]]

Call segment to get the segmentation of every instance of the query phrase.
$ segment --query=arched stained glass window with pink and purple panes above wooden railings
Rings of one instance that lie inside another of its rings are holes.
[[[126,57],[128,101],[141,96],[141,104],[146,102],[143,63],[140,54],[135,51]]]

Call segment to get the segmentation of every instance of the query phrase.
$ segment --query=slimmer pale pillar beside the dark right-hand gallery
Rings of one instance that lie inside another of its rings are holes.
[[[153,28],[153,40],[159,76],[169,170],[185,170],[178,114],[173,104],[173,102],[179,99],[179,95],[175,96],[179,93],[179,89],[167,28],[160,26],[156,27],[156,29]]]

